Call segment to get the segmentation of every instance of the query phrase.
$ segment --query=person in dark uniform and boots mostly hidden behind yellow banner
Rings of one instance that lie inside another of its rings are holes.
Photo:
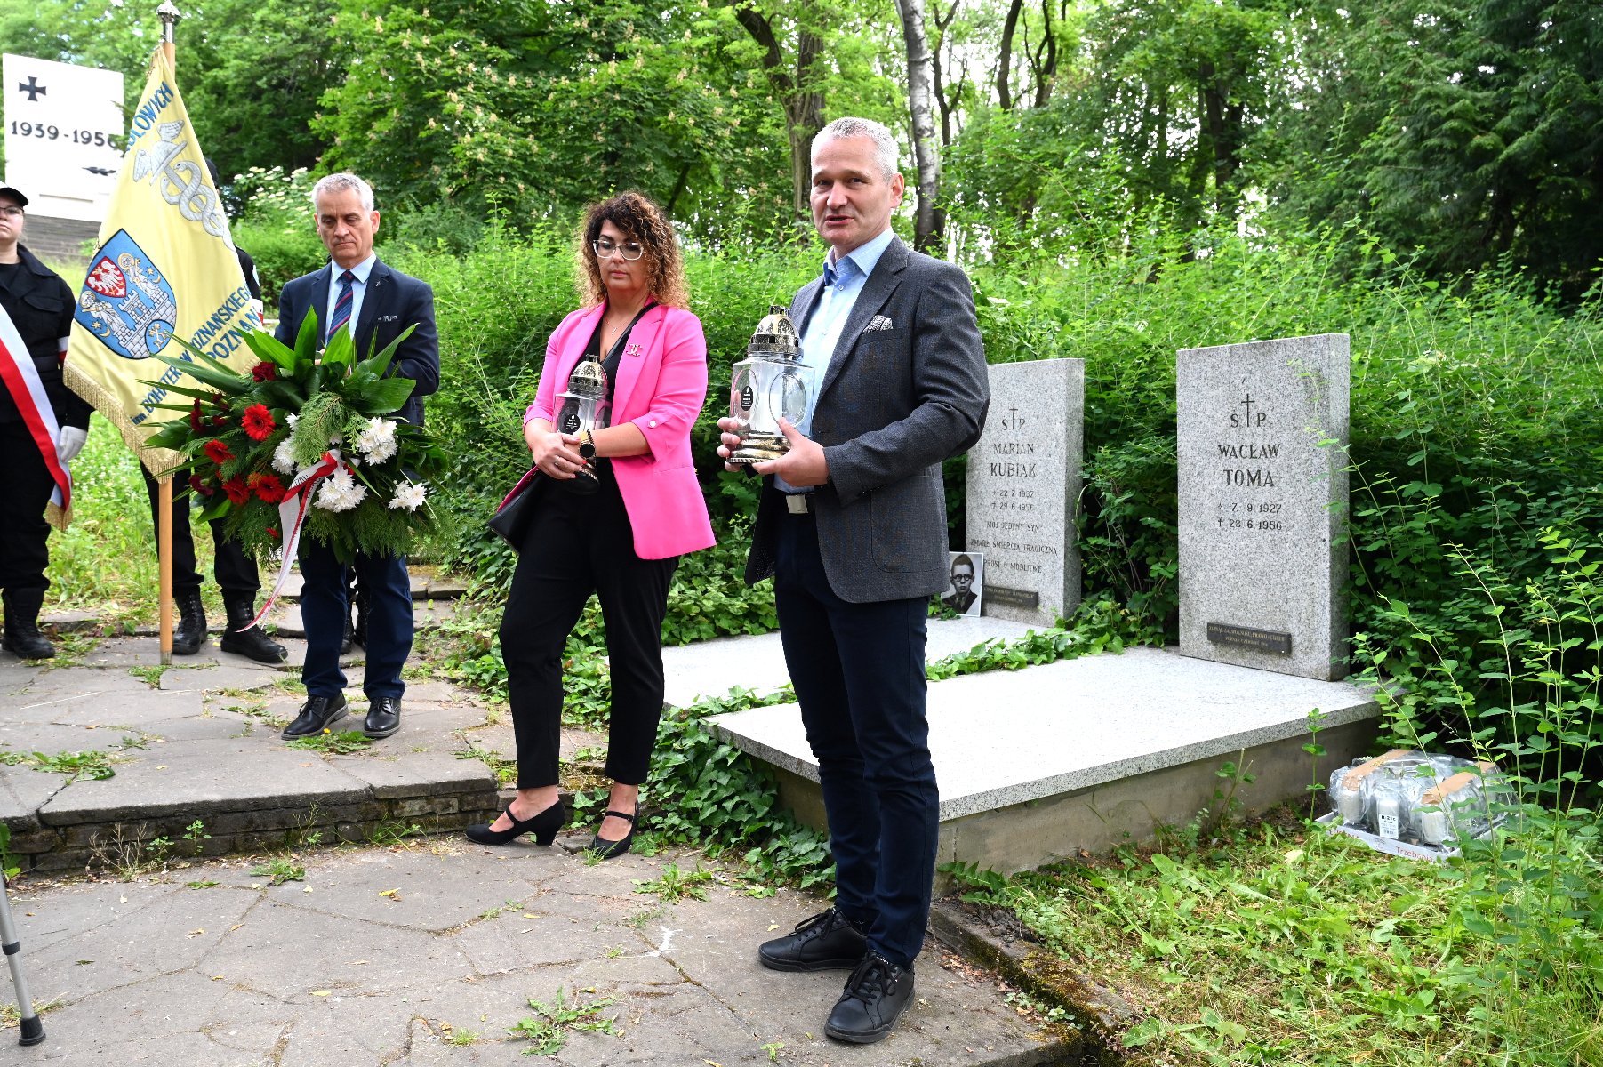
[[[216,187],[216,165],[208,159],[207,170],[212,171],[212,186]],[[256,277],[256,263],[244,248],[234,247],[239,255],[239,269],[245,274],[245,288],[255,301],[256,314],[261,314],[261,279]],[[151,529],[160,524],[160,489],[149,468],[144,473],[144,492],[151,498]],[[175,490],[178,485],[175,484]],[[173,604],[178,607],[178,625],[173,630],[173,654],[194,655],[205,644],[207,617],[200,604],[200,572],[196,569],[196,542],[189,530],[191,495],[173,493]],[[223,529],[223,519],[212,521],[213,562],[212,574],[223,590],[223,609],[228,612],[228,626],[223,630],[223,650],[245,655],[258,663],[282,663],[289,652],[282,644],[261,631],[261,626],[250,623],[256,615],[256,593],[261,590],[261,577],[256,562],[245,554],[239,542],[231,540]]]

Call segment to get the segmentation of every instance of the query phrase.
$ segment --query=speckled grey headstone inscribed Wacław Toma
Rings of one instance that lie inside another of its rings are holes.
[[[1348,336],[1181,349],[1180,652],[1347,674]]]

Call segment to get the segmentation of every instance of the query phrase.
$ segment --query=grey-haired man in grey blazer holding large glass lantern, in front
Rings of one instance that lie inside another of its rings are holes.
[[[779,633],[818,758],[835,907],[758,948],[776,971],[851,969],[824,1033],[878,1041],[912,1001],[939,795],[925,719],[930,596],[947,580],[941,461],[979,439],[991,386],[963,272],[891,232],[890,130],[813,141],[824,276],[790,303],[818,401],[765,476],[745,580],[774,578]],[[739,444],[721,420],[723,449]]]

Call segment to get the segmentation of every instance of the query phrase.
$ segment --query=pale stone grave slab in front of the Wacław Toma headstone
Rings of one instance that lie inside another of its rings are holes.
[[[1318,761],[1302,750],[1314,708]],[[933,682],[928,715],[941,862],[1011,873],[1189,822],[1213,803],[1225,761],[1255,775],[1234,791],[1246,811],[1300,796],[1369,747],[1380,710],[1348,682],[1130,649]],[[797,705],[712,723],[774,767],[798,817],[824,825]]]

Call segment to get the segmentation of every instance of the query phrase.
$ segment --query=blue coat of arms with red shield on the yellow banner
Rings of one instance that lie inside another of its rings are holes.
[[[123,359],[149,359],[173,335],[178,298],[144,248],[119,229],[95,253],[74,319]]]

